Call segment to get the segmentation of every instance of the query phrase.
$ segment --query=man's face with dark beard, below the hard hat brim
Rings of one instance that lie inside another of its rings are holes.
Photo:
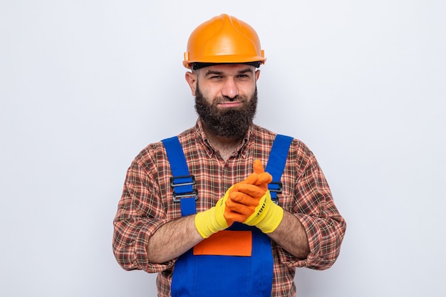
[[[222,64],[202,68],[196,75],[192,93],[202,123],[215,135],[244,137],[256,114],[259,71],[244,64]]]

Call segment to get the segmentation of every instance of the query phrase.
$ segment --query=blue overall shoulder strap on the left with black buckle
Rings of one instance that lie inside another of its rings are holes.
[[[170,186],[173,187],[172,199],[174,202],[180,202],[182,217],[195,214],[197,212],[195,200],[198,199],[197,189],[193,188],[195,177],[189,173],[180,140],[175,136],[162,140],[162,143],[172,170],[170,177]]]

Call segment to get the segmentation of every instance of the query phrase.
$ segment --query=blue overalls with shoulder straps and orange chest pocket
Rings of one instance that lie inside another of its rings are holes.
[[[277,203],[281,192],[281,174],[292,137],[277,135],[266,172],[273,177],[268,185],[271,199]],[[170,185],[174,202],[180,202],[182,217],[195,214],[197,189],[189,173],[184,152],[177,137],[162,140],[172,170]],[[234,250],[233,246],[242,246]],[[229,252],[227,252],[229,251]],[[235,222],[228,229],[204,239],[180,256],[172,276],[172,297],[269,297],[273,279],[271,239],[254,226]]]

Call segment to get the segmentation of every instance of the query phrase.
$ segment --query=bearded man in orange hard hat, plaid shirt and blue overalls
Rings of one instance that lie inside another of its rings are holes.
[[[296,267],[331,267],[346,222],[311,150],[253,123],[265,62],[254,29],[222,14],[187,48],[199,118],[133,160],[115,257],[159,273],[162,297],[296,296]]]

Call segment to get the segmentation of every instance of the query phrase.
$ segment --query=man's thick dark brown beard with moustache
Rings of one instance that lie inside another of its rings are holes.
[[[231,102],[237,99],[242,105],[237,108],[218,108],[219,103]],[[202,124],[214,135],[242,138],[247,134],[257,109],[257,88],[251,95],[237,96],[234,99],[227,97],[217,97],[209,103],[207,98],[201,93],[197,83],[195,92],[195,110],[202,120]]]

